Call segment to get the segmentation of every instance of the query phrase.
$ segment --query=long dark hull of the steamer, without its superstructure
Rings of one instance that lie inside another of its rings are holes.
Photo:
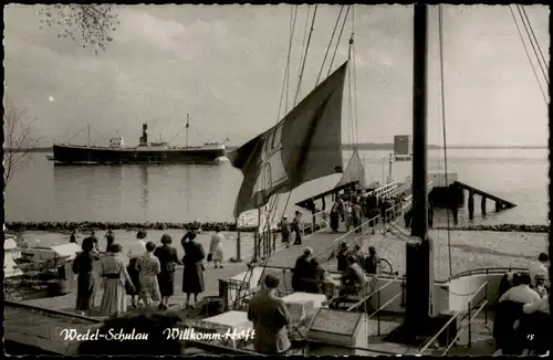
[[[225,146],[152,149],[113,149],[102,147],[54,145],[50,160],[59,165],[122,163],[215,163],[225,157]]]

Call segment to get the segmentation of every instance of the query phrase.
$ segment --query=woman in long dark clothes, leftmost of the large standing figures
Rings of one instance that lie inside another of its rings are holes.
[[[91,237],[83,240],[83,252],[77,254],[73,261],[73,273],[77,275],[76,280],[76,310],[82,315],[90,313],[94,307],[94,295],[96,293],[96,275],[94,263],[100,258],[94,252],[94,241]]]

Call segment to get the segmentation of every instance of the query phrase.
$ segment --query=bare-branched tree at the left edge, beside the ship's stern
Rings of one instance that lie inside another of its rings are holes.
[[[38,139],[32,137],[32,125],[25,123],[25,114],[11,103],[4,104],[2,127],[3,142],[3,183],[8,186],[15,168],[29,161],[29,153],[36,146]]]

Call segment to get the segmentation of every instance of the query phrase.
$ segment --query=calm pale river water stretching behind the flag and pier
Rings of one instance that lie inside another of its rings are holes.
[[[347,157],[348,152],[344,152]],[[387,151],[363,151],[368,182],[388,174]],[[442,152],[429,151],[429,172],[444,168]],[[546,224],[547,150],[449,150],[448,172],[476,188],[519,207],[478,223]],[[410,174],[410,162],[396,162],[394,177]],[[34,153],[18,168],[6,193],[7,221],[189,222],[232,221],[242,176],[227,161],[219,166],[54,167],[45,153]],[[331,189],[340,174],[306,183],[292,192],[294,203]],[[281,197],[284,208],[288,195]],[[489,211],[493,204],[488,205]],[[439,222],[445,214],[437,214]],[[460,213],[461,222],[468,222]]]

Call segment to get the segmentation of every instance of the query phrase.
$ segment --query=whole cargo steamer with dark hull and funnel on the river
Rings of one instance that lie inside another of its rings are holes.
[[[188,131],[189,123],[186,129]],[[226,156],[223,142],[207,142],[202,146],[177,147],[169,142],[148,141],[148,125],[143,124],[139,144],[125,146],[121,136],[109,139],[109,146],[54,144],[53,156],[46,156],[55,165],[131,165],[131,163],[218,163]]]

